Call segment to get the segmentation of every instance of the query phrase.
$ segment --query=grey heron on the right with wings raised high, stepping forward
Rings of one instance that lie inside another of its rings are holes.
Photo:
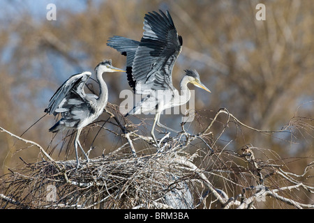
[[[162,10],[159,11],[160,14],[153,12],[145,15],[144,33],[140,42],[121,36],[113,36],[107,41],[108,46],[126,56],[126,73],[130,87],[137,94],[147,95],[126,116],[156,112],[151,137],[157,146],[155,126],[172,130],[159,122],[160,114],[167,108],[184,105],[190,100],[187,84],[191,83],[211,92],[200,82],[200,75],[196,70],[185,70],[186,75],[180,82],[181,95],[172,85],[172,69],[182,49],[182,38],[177,33],[170,13],[167,11],[165,15]]]

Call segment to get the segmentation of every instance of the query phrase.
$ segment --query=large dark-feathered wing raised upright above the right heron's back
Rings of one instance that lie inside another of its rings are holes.
[[[173,89],[172,68],[181,52],[182,38],[172,17],[160,10],[144,17],[144,34],[132,64],[136,93]]]

